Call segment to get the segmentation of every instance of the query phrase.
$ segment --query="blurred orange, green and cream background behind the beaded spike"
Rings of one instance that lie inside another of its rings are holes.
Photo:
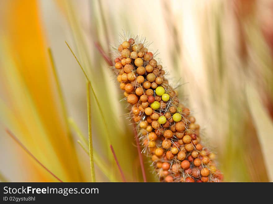
[[[110,144],[126,180],[143,181],[123,95],[98,50],[110,57],[125,30],[153,42],[224,181],[272,182],[272,19],[272,0],[1,0],[0,180],[57,181],[8,128],[61,180],[91,181],[86,79],[67,41],[94,90],[96,181],[122,181]]]

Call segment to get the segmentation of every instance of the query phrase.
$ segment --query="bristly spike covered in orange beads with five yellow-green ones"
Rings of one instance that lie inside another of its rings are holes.
[[[218,182],[215,154],[200,143],[199,125],[164,78],[144,43],[130,38],[118,47],[115,69],[137,123],[143,152],[162,182]]]

